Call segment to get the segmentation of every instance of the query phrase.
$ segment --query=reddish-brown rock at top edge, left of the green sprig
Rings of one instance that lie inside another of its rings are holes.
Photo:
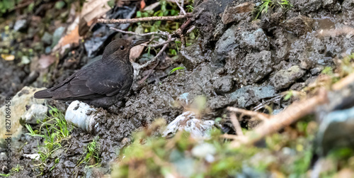
[[[237,6],[232,6],[229,4],[224,13],[222,14],[222,23],[239,23],[241,20],[247,19],[250,21],[252,19],[252,12],[254,9],[254,4],[251,2],[245,2],[238,4]]]

